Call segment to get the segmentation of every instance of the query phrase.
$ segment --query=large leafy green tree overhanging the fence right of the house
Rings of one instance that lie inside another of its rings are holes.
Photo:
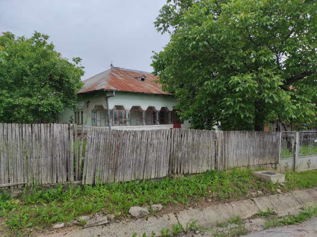
[[[315,0],[169,0],[154,22],[171,34],[154,74],[193,128],[314,123],[316,9]]]

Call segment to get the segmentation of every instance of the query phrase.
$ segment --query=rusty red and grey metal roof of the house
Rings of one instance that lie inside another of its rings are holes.
[[[137,79],[143,75],[145,81]],[[153,80],[158,79],[150,73],[115,67],[84,80],[84,86],[77,93],[107,90],[171,95]]]

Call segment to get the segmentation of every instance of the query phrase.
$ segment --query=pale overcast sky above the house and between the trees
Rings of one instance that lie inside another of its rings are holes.
[[[152,72],[152,51],[169,41],[153,22],[166,0],[0,0],[0,32],[50,36],[64,57],[81,57],[87,79],[115,67]]]

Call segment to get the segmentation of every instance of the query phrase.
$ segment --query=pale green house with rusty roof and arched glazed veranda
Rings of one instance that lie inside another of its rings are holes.
[[[77,108],[65,108],[58,121],[124,130],[190,127],[174,109],[176,98],[157,80],[147,72],[111,67],[83,81]]]

